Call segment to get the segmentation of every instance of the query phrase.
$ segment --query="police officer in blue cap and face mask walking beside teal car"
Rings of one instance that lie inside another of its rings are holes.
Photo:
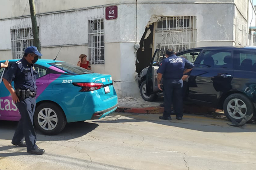
[[[36,133],[33,126],[36,108],[36,70],[34,63],[42,56],[35,46],[26,48],[24,57],[8,69],[3,76],[4,85],[12,95],[12,100],[19,109],[21,119],[12,138],[12,144],[27,147],[29,154],[42,155],[44,149],[36,145]],[[11,83],[14,81],[13,89]],[[25,141],[22,139],[25,137]]]

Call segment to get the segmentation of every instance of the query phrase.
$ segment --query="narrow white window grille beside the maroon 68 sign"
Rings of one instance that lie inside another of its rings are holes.
[[[104,18],[88,20],[88,55],[91,64],[104,64]]]

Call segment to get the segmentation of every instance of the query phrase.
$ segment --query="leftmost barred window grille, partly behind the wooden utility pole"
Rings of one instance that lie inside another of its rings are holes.
[[[37,29],[40,42],[39,27]],[[32,27],[11,28],[12,59],[22,58],[24,50],[33,45],[33,39]]]

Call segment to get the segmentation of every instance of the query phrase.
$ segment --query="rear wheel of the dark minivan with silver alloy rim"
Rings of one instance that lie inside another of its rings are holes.
[[[226,98],[223,104],[226,117],[229,120],[241,122],[246,115],[254,114],[254,106],[247,96],[236,93]],[[248,120],[251,121],[252,119]]]

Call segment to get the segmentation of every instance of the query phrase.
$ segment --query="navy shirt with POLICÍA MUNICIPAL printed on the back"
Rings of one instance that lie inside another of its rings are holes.
[[[186,58],[171,55],[162,61],[157,72],[163,74],[163,79],[180,80],[183,76],[184,68],[191,69],[193,67],[194,64],[186,60]]]

